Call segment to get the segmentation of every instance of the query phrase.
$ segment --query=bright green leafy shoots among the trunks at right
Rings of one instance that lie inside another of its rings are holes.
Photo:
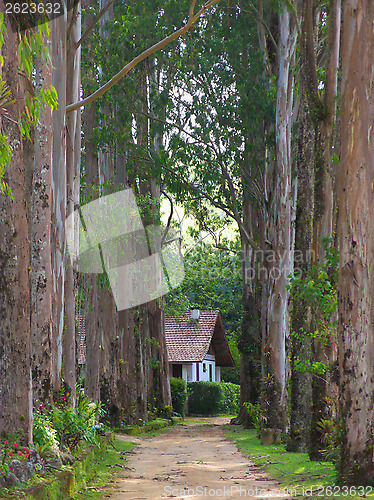
[[[324,238],[322,241],[324,249],[324,262],[309,267],[305,276],[289,276],[287,289],[294,300],[303,300],[310,307],[315,326],[313,332],[303,329],[295,332],[291,330],[292,338],[309,337],[318,339],[323,345],[332,345],[331,336],[336,331],[337,282],[339,255],[333,246],[332,238]],[[323,362],[315,360],[294,358],[294,367],[303,372],[323,374],[326,366]]]

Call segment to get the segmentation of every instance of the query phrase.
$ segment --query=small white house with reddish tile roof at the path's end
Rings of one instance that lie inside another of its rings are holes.
[[[193,309],[165,318],[171,377],[186,382],[220,382],[221,367],[235,366],[219,311]]]

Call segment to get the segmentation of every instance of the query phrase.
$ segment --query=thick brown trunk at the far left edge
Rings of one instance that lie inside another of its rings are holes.
[[[4,14],[4,6],[0,11]],[[12,145],[12,159],[4,180],[14,199],[0,195],[0,432],[22,429],[22,442],[32,442],[31,323],[25,165],[23,140],[18,127],[24,102],[19,75],[18,41],[9,16],[4,16],[8,36],[2,47],[2,75],[16,102],[8,120],[1,117],[2,133]]]

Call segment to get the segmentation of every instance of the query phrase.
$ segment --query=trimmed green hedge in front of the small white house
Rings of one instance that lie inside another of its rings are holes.
[[[190,382],[188,384],[188,412],[192,415],[236,413],[240,386],[229,382]]]

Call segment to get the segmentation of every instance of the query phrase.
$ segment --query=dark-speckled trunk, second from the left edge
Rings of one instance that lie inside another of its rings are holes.
[[[52,37],[45,36],[52,51]],[[36,90],[52,85],[52,65],[36,60]],[[32,378],[35,405],[52,400],[52,115],[41,111],[34,129],[34,165],[31,208],[31,338]]]

